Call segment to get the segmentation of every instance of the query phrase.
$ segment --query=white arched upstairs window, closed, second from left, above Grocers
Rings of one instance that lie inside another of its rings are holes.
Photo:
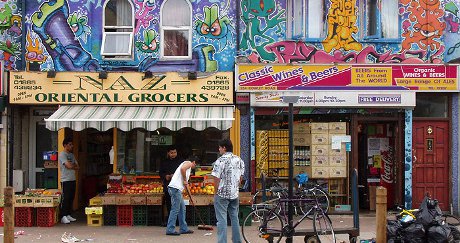
[[[166,0],[160,12],[161,59],[192,59],[192,6],[190,2]]]

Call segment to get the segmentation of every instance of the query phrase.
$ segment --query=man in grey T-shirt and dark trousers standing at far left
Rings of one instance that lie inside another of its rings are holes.
[[[73,142],[70,138],[64,138],[62,142],[64,151],[59,154],[59,166],[61,169],[61,223],[69,224],[76,221],[70,216],[72,212],[73,200],[75,198],[76,171],[79,169],[78,162],[73,155]]]

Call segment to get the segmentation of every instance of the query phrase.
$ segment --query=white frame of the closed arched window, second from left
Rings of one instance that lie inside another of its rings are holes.
[[[163,25],[163,12],[164,12],[164,6],[169,0],[164,1],[161,4],[160,7],[160,60],[162,61],[170,61],[170,60],[192,60],[192,31],[193,31],[193,10],[192,10],[192,4],[190,3],[189,0],[182,0],[188,5],[188,9],[190,11],[190,19],[189,19],[189,26],[168,26],[168,25]],[[179,14],[179,13],[178,13]],[[165,40],[164,40],[164,32],[168,30],[178,30],[178,31],[188,31],[188,50],[187,50],[187,56],[165,56]]]

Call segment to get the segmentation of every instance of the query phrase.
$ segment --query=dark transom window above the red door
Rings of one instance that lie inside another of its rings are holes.
[[[447,118],[449,98],[444,95],[419,95],[417,94],[414,117]]]

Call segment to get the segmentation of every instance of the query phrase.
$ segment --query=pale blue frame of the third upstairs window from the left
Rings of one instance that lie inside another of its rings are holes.
[[[302,11],[302,27],[301,27],[301,32],[300,34],[298,35],[294,35],[294,26],[295,26],[295,16],[294,16],[294,2],[296,0],[287,0],[287,15],[288,17],[286,18],[287,21],[286,21],[286,25],[287,25],[287,33],[286,33],[286,36],[288,37],[288,39],[291,39],[291,40],[306,40],[306,41],[310,41],[310,42],[321,42],[324,40],[324,38],[327,37],[327,4],[326,4],[326,1],[325,0],[320,0],[322,2],[322,8],[323,10],[322,11],[319,11],[322,13],[322,18],[323,18],[323,21],[319,21],[321,24],[322,24],[322,32],[321,32],[321,35],[320,37],[310,37],[309,36],[309,30],[308,30],[308,4],[310,1],[318,1],[318,0],[298,0],[298,1],[301,1],[301,9],[303,9]]]

